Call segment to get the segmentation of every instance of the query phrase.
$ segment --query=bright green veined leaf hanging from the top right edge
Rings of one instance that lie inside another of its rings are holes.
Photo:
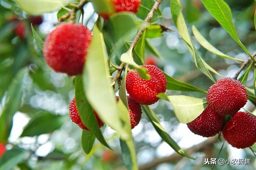
[[[233,23],[231,10],[224,2],[224,0],[201,0],[205,8],[212,14],[212,16],[220,23],[220,25],[226,29],[229,35],[244,49],[244,51],[251,56],[250,52],[239,40],[236,32],[235,25]]]

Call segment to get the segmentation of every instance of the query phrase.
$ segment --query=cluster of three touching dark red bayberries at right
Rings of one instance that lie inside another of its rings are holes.
[[[232,78],[222,78],[213,84],[206,97],[208,107],[188,128],[195,134],[211,137],[222,131],[223,137],[236,148],[246,148],[256,143],[256,117],[238,112],[247,102],[247,92],[242,83]],[[232,118],[224,125],[227,115]]]

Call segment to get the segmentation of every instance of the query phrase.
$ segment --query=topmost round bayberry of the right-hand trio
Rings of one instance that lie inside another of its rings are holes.
[[[222,78],[210,86],[207,102],[220,115],[233,115],[247,102],[244,85],[230,77]]]

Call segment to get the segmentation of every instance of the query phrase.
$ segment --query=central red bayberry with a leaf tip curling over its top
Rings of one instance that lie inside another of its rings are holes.
[[[166,92],[166,77],[162,70],[154,65],[144,65],[151,76],[149,80],[140,78],[136,70],[128,72],[126,76],[126,90],[130,97],[139,104],[151,105],[158,101],[156,96],[160,92]]]

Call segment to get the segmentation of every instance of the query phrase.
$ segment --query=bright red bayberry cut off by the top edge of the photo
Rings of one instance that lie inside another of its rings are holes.
[[[110,2],[114,5],[114,13],[122,11],[137,13],[140,8],[141,0],[110,0]],[[111,14],[99,15],[107,20]]]

